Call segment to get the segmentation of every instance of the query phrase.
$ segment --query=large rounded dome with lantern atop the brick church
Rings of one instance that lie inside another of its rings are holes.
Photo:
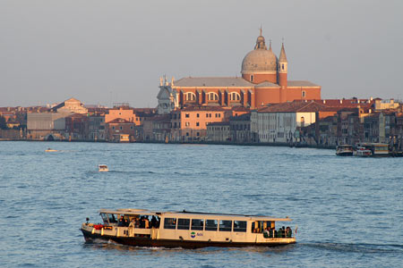
[[[277,62],[277,56],[271,51],[271,46],[267,49],[264,38],[259,36],[253,51],[244,56],[241,73],[276,73]]]

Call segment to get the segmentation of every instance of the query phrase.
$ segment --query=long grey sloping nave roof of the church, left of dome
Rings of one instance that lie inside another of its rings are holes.
[[[252,88],[253,83],[244,80],[241,77],[186,77],[175,81],[173,88],[182,87],[247,87]]]

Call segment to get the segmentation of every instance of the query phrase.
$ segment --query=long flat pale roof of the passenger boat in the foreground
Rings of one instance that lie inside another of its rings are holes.
[[[116,210],[111,209],[100,209],[100,214],[125,214],[125,215],[164,215],[164,217],[180,217],[184,218],[211,218],[219,220],[256,220],[256,221],[270,221],[270,222],[291,222],[292,219],[286,218],[276,218],[263,215],[246,215],[246,214],[214,214],[214,213],[201,213],[201,212],[158,212],[150,211],[147,209],[135,209],[135,208],[119,208]]]

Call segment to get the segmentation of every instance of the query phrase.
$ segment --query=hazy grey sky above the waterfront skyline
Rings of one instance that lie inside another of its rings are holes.
[[[261,24],[322,98],[403,99],[403,1],[0,0],[0,106],[154,107],[164,74],[240,76]]]

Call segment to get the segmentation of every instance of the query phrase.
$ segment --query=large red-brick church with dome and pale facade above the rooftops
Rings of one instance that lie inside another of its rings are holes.
[[[189,105],[244,106],[257,109],[294,100],[321,99],[321,86],[306,80],[287,80],[284,44],[279,57],[261,35],[254,49],[244,56],[242,77],[187,77],[160,80],[159,113]]]

